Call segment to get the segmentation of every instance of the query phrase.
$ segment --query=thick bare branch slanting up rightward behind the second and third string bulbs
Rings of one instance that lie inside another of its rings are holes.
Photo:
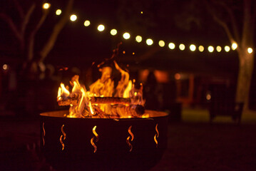
[[[46,44],[43,46],[42,50],[39,53],[40,55],[39,62],[43,62],[43,60],[46,58],[48,53],[53,48],[54,43],[56,42],[56,39],[58,37],[58,34],[61,32],[63,26],[65,26],[66,22],[68,21],[68,16],[71,13],[72,8],[73,8],[73,0],[69,0],[66,6],[66,9],[63,13],[63,16],[61,17],[60,21],[58,21],[58,23],[54,26],[51,36],[48,38],[48,41],[46,42]]]

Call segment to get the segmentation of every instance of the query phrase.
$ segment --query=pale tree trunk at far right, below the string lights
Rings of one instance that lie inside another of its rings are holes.
[[[244,103],[244,109],[248,109],[250,83],[252,80],[252,71],[254,66],[254,53],[247,53],[247,48],[238,51],[239,71],[237,77],[236,102]]]

